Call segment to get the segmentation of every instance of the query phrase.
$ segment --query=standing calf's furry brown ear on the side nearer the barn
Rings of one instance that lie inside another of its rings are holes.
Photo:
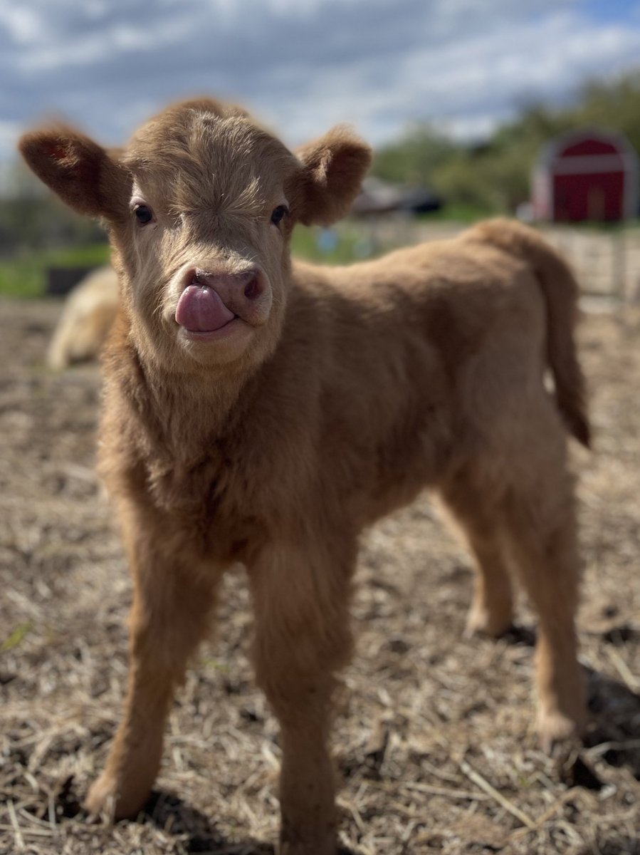
[[[371,165],[371,148],[338,126],[296,154],[302,162],[299,219],[305,226],[329,226],[348,212],[360,192]]]

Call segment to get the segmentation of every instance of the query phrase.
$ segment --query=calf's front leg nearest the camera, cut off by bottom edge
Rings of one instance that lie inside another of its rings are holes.
[[[349,555],[347,556],[347,552]],[[250,568],[258,684],[281,730],[281,855],[335,855],[335,782],[329,752],[336,672],[349,658],[355,550],[265,550]]]

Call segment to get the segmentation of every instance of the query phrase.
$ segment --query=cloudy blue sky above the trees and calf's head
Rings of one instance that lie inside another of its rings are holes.
[[[245,103],[292,145],[347,121],[481,137],[640,68],[640,0],[0,0],[0,162],[64,117],[124,142],[168,101]]]

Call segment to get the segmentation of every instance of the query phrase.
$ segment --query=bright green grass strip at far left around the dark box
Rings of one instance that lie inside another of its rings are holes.
[[[50,267],[90,267],[109,262],[109,244],[89,244],[63,250],[23,251],[0,260],[0,295],[43,297]]]

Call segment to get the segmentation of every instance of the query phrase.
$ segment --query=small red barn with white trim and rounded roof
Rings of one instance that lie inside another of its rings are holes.
[[[537,220],[614,222],[638,214],[638,161],[619,133],[582,128],[546,145],[533,171]]]

